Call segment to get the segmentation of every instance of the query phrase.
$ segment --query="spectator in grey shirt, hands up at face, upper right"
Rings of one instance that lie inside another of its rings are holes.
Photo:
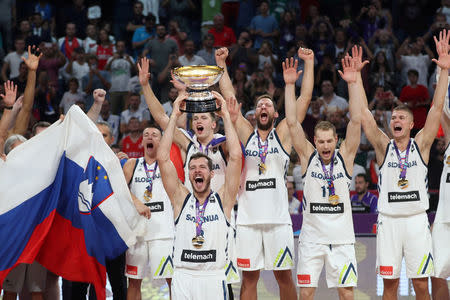
[[[414,43],[410,44],[411,39],[407,38],[397,50],[397,64],[401,70],[401,78],[404,84],[410,84],[408,81],[408,70],[415,69],[419,72],[418,84],[427,85],[428,67],[431,64],[431,58],[434,57],[431,49],[425,45],[423,38],[416,38]],[[425,50],[426,54],[422,54]]]

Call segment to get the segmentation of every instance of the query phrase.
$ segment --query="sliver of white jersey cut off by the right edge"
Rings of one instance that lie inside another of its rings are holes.
[[[439,203],[434,222],[450,223],[450,147],[447,145],[444,155],[441,182],[439,185]]]

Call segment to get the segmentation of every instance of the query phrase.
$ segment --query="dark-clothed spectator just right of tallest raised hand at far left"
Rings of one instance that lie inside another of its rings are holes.
[[[58,82],[58,70],[66,63],[66,57],[59,51],[56,43],[41,43],[39,48],[42,51],[42,58],[39,61],[38,71],[47,71],[51,82]]]

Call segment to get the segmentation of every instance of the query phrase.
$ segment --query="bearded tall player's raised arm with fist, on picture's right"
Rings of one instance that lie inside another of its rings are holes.
[[[302,123],[308,111],[314,88],[314,52],[311,49],[299,48],[297,53],[298,57],[305,63],[302,88],[296,102],[297,121]]]

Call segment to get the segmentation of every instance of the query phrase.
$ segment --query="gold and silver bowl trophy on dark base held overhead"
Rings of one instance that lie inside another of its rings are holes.
[[[185,100],[183,112],[212,112],[216,111],[216,100],[208,87],[219,82],[223,75],[223,68],[218,66],[186,66],[173,69],[176,80],[184,83],[189,96]]]

